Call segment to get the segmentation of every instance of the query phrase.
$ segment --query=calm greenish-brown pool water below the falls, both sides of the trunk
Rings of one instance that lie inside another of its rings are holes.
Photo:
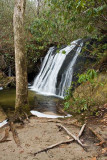
[[[28,94],[31,109],[44,113],[59,113],[56,107],[60,100],[59,98],[39,95],[36,92],[30,90]],[[2,106],[4,111],[7,113],[14,110],[15,89],[0,90],[0,106]]]

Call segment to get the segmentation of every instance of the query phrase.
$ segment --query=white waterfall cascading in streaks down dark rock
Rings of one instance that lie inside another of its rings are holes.
[[[55,53],[55,47],[51,47],[44,58],[41,70],[34,80],[32,90],[44,95],[54,95],[64,98],[66,90],[70,87],[73,76],[73,66],[76,62],[78,54],[81,51],[83,42],[81,40],[73,41],[67,47]],[[70,63],[63,70],[62,66],[67,58],[67,55],[75,51]],[[58,74],[63,70],[61,79],[58,84]]]

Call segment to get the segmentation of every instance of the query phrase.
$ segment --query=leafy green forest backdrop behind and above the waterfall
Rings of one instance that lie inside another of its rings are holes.
[[[4,59],[1,70],[14,71],[13,44],[14,0],[0,1],[0,56]],[[79,38],[91,37],[102,41],[107,35],[107,2],[101,0],[27,0],[25,15],[26,52],[28,73],[37,72],[40,57],[49,46],[67,45]],[[93,46],[92,54],[102,58],[107,45]],[[36,65],[36,67],[35,67]]]

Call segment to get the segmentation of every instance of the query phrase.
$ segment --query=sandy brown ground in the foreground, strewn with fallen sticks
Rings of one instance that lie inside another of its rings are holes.
[[[0,128],[0,140],[3,139],[6,130],[8,131],[6,139],[0,141],[0,160],[107,160],[107,146],[101,142],[107,140],[106,123],[95,122],[95,120],[88,122],[80,137],[81,142],[87,146],[85,147],[87,151],[77,141],[73,141],[35,156],[34,153],[41,149],[70,139],[70,136],[63,129],[59,130],[57,125],[65,126],[75,136],[78,135],[82,125],[74,118],[46,119],[32,116],[29,122],[15,123],[18,133],[16,143],[9,126],[5,125]],[[89,127],[97,135],[91,132]],[[19,146],[17,138],[20,141]]]

